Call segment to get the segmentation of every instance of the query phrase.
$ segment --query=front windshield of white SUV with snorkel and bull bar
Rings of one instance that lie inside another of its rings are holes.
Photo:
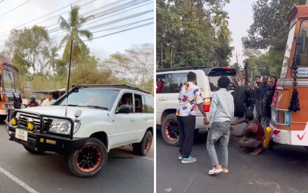
[[[80,89],[79,92],[73,92],[68,95],[68,106],[98,106],[109,110],[112,108],[119,90],[111,89]],[[66,105],[66,98],[59,103]]]

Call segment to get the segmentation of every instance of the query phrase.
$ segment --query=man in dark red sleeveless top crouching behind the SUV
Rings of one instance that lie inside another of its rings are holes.
[[[233,129],[230,128],[231,134],[235,137],[245,136],[244,139],[238,141],[239,146],[241,148],[253,148],[253,152],[250,154],[257,155],[262,151],[262,141],[265,135],[264,129],[261,123],[253,118],[253,113],[251,112],[245,112],[243,120],[231,123],[231,125],[237,125],[244,122],[247,125],[241,134],[234,134]]]

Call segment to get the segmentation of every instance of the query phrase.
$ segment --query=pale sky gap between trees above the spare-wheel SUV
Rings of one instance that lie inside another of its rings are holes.
[[[230,0],[224,8],[229,12],[229,29],[232,31],[233,42],[231,46],[234,46],[233,58],[231,58],[231,64],[236,63],[236,52],[238,57],[238,63],[242,64],[245,57],[242,57],[242,42],[241,38],[247,36],[247,30],[253,23],[252,4],[256,0]]]

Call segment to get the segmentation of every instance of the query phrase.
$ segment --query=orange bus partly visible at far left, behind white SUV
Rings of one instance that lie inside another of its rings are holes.
[[[0,121],[4,121],[8,109],[21,108],[22,96],[15,66],[0,62],[0,78]]]

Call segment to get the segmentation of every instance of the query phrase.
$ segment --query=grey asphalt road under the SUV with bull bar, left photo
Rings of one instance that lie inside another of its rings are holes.
[[[131,147],[111,150],[105,168],[94,178],[71,174],[67,162],[55,153],[32,155],[8,140],[0,124],[0,193],[154,192],[154,144],[146,157]],[[132,157],[118,159],[112,157]]]

